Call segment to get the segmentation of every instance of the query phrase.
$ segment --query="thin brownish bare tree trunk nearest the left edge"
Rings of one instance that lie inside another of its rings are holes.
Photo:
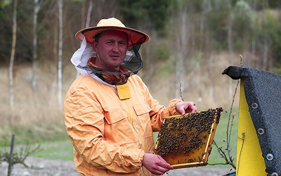
[[[14,1],[13,4],[13,41],[11,49],[11,58],[9,65],[9,90],[10,90],[10,106],[14,106],[14,92],[13,92],[13,61],[15,59],[15,43],[17,38],[17,6],[18,0]]]

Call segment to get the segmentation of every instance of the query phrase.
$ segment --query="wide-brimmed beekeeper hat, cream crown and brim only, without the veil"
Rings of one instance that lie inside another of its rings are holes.
[[[83,41],[83,39],[86,38],[86,42],[93,44],[96,34],[104,32],[105,30],[118,30],[125,32],[129,37],[129,46],[131,46],[132,44],[144,44],[149,40],[148,34],[126,27],[117,18],[102,19],[95,27],[87,27],[83,30],[79,30],[75,34],[75,37],[80,41]]]

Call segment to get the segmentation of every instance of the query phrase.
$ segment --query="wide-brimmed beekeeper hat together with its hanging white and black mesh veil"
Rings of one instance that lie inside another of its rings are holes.
[[[128,70],[126,73],[138,73],[138,70],[143,68],[143,61],[141,55],[138,53],[141,45],[148,42],[148,34],[139,30],[126,27],[117,18],[102,19],[98,22],[96,27],[88,27],[79,30],[75,37],[81,41],[80,48],[75,51],[71,58],[71,62],[81,75],[91,75],[92,73],[99,73],[91,66],[87,65],[89,58],[96,58],[96,51],[93,50],[92,44],[95,41],[95,36],[106,30],[118,30],[125,32],[128,35],[128,50],[126,51],[126,58],[121,64],[122,67]],[[124,73],[116,71],[103,71],[103,74],[121,75]]]

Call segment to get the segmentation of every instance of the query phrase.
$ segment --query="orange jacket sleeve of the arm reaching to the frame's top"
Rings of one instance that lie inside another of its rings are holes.
[[[153,132],[159,132],[164,117],[180,114],[176,111],[175,105],[176,103],[183,101],[181,101],[180,99],[172,99],[171,101],[169,101],[169,105],[167,107],[159,105],[159,102],[156,99],[153,99],[148,90],[148,87],[146,87],[146,85],[141,80],[141,77],[139,77],[138,81],[139,84],[141,84],[143,95],[145,96],[148,105],[152,109],[150,111],[150,122],[152,130]]]

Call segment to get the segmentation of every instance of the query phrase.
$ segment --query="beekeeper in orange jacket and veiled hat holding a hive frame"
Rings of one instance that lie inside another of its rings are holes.
[[[197,111],[192,101],[173,99],[159,105],[136,73],[138,53],[148,34],[126,27],[117,18],[75,35],[81,47],[71,62],[81,74],[64,101],[67,134],[81,175],[162,175],[173,169],[153,154],[152,132],[162,118]]]

